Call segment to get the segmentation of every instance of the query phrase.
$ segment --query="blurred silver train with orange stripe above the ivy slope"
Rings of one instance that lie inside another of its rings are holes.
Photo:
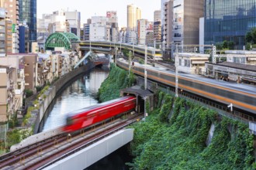
[[[125,70],[129,70],[128,63],[117,61],[118,66]],[[135,65],[132,68],[133,73],[144,76],[144,66]],[[147,68],[147,78],[164,83],[170,87],[175,87],[175,73],[164,70]],[[194,93],[209,100],[215,100],[222,104],[233,104],[234,107],[245,110],[249,113],[256,114],[256,90],[253,92],[249,89],[240,90],[240,87],[231,88],[212,83],[208,79],[199,80],[195,77],[178,76],[178,88],[189,93]]]

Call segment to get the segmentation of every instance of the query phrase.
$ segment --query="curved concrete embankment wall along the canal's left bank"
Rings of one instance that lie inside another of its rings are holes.
[[[78,69],[72,70],[70,73],[65,74],[64,76],[61,76],[60,79],[58,79],[53,86],[45,92],[47,97],[40,101],[40,108],[39,110],[33,110],[32,114],[36,114],[36,120],[33,128],[33,133],[36,134],[39,131],[40,123],[43,120],[44,114],[46,113],[48,107],[50,106],[51,102],[54,100],[54,97],[57,93],[61,91],[61,89],[67,84],[69,81],[74,80],[76,76],[78,76],[81,73],[85,73],[88,70],[91,70],[94,68],[95,65],[93,63],[88,63],[86,66],[81,66]]]

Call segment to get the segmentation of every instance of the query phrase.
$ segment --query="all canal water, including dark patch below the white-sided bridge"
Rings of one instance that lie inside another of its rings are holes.
[[[45,117],[45,123],[41,131],[64,125],[67,114],[73,110],[98,104],[98,100],[95,99],[96,94],[101,83],[108,75],[109,68],[95,68],[89,73],[85,73],[85,75],[78,76],[74,82],[69,83],[55,98],[51,109],[46,114],[47,117]],[[86,169],[129,169],[125,165],[126,162],[131,162],[131,158],[127,147],[124,146]]]

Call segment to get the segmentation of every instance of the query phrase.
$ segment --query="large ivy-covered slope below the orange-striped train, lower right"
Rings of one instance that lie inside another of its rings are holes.
[[[158,108],[135,128],[133,169],[253,169],[253,136],[246,125],[181,98],[159,93]],[[173,103],[175,103],[173,105]],[[175,108],[172,108],[174,106]],[[171,110],[172,109],[172,110]],[[171,118],[169,115],[171,113]],[[211,124],[216,128],[206,146]]]

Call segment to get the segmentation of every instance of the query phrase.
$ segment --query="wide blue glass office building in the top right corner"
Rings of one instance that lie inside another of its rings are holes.
[[[205,44],[227,40],[243,49],[246,33],[256,26],[255,1],[206,0],[204,17]]]

